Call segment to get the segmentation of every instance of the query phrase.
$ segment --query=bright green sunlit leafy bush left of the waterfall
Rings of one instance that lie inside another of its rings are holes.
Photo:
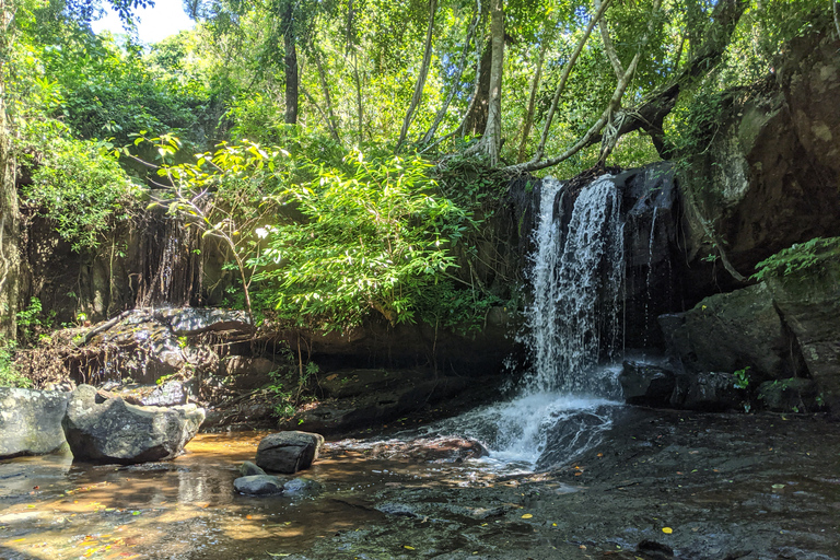
[[[340,329],[373,310],[413,320],[420,294],[455,266],[463,211],[439,196],[423,160],[353,152],[347,163],[350,172],[313,164],[314,180],[273,197],[303,220],[260,229],[267,246],[252,264],[266,267],[264,289],[298,324]]]

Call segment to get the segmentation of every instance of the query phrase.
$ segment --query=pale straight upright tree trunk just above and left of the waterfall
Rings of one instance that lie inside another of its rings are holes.
[[[487,100],[487,126],[475,152],[485,153],[490,165],[499,163],[502,148],[502,69],[504,67],[504,2],[490,2],[490,66],[489,96]]]

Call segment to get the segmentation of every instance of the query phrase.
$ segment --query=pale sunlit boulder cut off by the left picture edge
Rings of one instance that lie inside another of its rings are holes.
[[[69,393],[0,387],[0,459],[43,455],[66,445]]]

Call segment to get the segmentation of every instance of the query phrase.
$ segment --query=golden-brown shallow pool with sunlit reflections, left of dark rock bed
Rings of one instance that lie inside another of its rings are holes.
[[[265,433],[199,434],[167,463],[88,465],[70,455],[0,463],[0,558],[237,559],[293,553],[319,537],[381,521],[372,494],[386,487],[489,486],[486,465],[371,459],[327,444],[302,475],[314,498],[249,498],[233,491],[238,464]]]

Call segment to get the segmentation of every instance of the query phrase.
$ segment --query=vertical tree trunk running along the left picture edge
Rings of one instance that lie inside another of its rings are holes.
[[[14,339],[20,273],[18,190],[10,125],[5,116],[5,73],[12,11],[0,0],[0,338]]]

